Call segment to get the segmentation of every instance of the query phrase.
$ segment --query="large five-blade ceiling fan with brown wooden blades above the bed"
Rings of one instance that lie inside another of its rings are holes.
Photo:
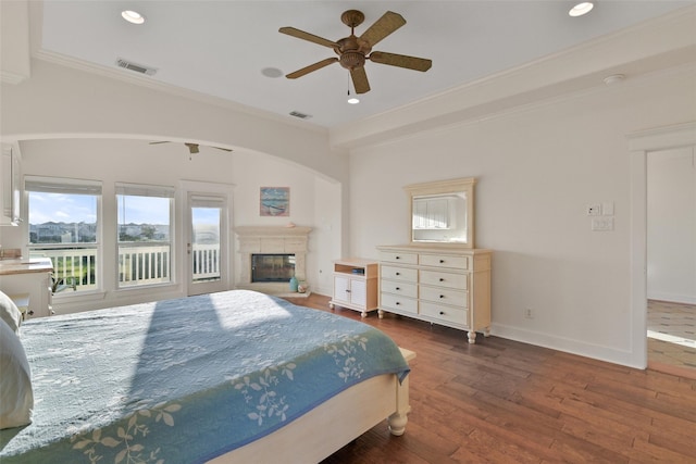
[[[313,71],[321,70],[333,63],[340,63],[343,67],[350,71],[353,87],[357,93],[365,93],[370,91],[370,83],[365,73],[365,60],[373,63],[387,64],[389,66],[406,67],[407,70],[427,71],[433,65],[431,60],[424,58],[408,57],[405,54],[387,53],[383,51],[372,51],[372,47],[377,45],[380,40],[394,33],[406,24],[406,20],[398,13],[387,11],[372,26],[368,28],[360,37],[356,37],[355,28],[364,21],[365,16],[358,10],[348,10],[340,15],[340,21],[350,27],[350,36],[337,41],[324,39],[313,34],[306,33],[295,27],[281,27],[282,34],[297,37],[298,39],[309,40],[320,46],[328,47],[336,52],[338,58],[332,57],[302,67],[294,73],[286,75],[288,79],[296,79],[304,76]]]

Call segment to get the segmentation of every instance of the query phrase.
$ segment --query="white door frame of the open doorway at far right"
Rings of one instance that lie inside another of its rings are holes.
[[[647,341],[647,156],[696,145],[696,122],[642,130],[626,136],[631,151],[631,340],[632,364],[646,368]]]

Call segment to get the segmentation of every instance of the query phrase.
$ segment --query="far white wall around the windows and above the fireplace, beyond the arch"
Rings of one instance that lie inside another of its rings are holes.
[[[20,143],[25,175],[57,176],[96,179],[103,183],[103,234],[104,242],[114,242],[114,214],[108,214],[114,204],[114,183],[126,181],[177,187],[181,179],[227,184],[234,187],[232,227],[236,225],[285,226],[289,222],[310,226],[310,252],[308,253],[308,283],[316,291],[331,293],[331,281],[326,287],[322,269],[331,269],[331,261],[340,253],[340,240],[326,238],[326,225],[339,222],[340,185],[316,176],[295,163],[262,153],[237,150],[233,153],[201,148],[201,152],[189,155],[182,143],[150,146],[145,140],[126,139],[45,139]],[[278,186],[290,188],[290,215],[288,217],[261,217],[259,214],[259,188]],[[315,201],[319,200],[319,201]],[[181,218],[183,204],[176,215],[177,231],[182,236]],[[112,211],[113,212],[113,211]],[[318,223],[325,218],[324,223]],[[337,229],[338,230],[338,229]],[[7,248],[26,247],[26,226],[0,228],[0,242]],[[234,234],[232,235],[234,237]],[[181,244],[181,242],[179,242]],[[104,250],[102,284],[104,294],[95,299],[55,300],[58,312],[126,304],[144,299],[174,298],[185,292],[182,266],[175,275],[175,287],[141,291],[114,291],[115,264],[113,256]],[[176,261],[184,262],[184,247],[175,250]],[[233,250],[236,250],[233,248]],[[234,280],[239,275],[239,256],[231,253]],[[323,285],[323,288],[322,288]]]

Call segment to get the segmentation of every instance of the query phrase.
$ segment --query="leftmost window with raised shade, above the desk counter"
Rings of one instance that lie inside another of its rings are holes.
[[[99,277],[98,181],[27,177],[29,255],[50,258],[54,291],[97,290]]]

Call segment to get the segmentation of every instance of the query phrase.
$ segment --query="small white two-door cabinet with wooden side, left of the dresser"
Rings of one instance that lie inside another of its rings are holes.
[[[377,276],[376,261],[351,258],[334,261],[334,294],[328,302],[335,306],[360,311],[365,317],[370,311],[377,309]]]

